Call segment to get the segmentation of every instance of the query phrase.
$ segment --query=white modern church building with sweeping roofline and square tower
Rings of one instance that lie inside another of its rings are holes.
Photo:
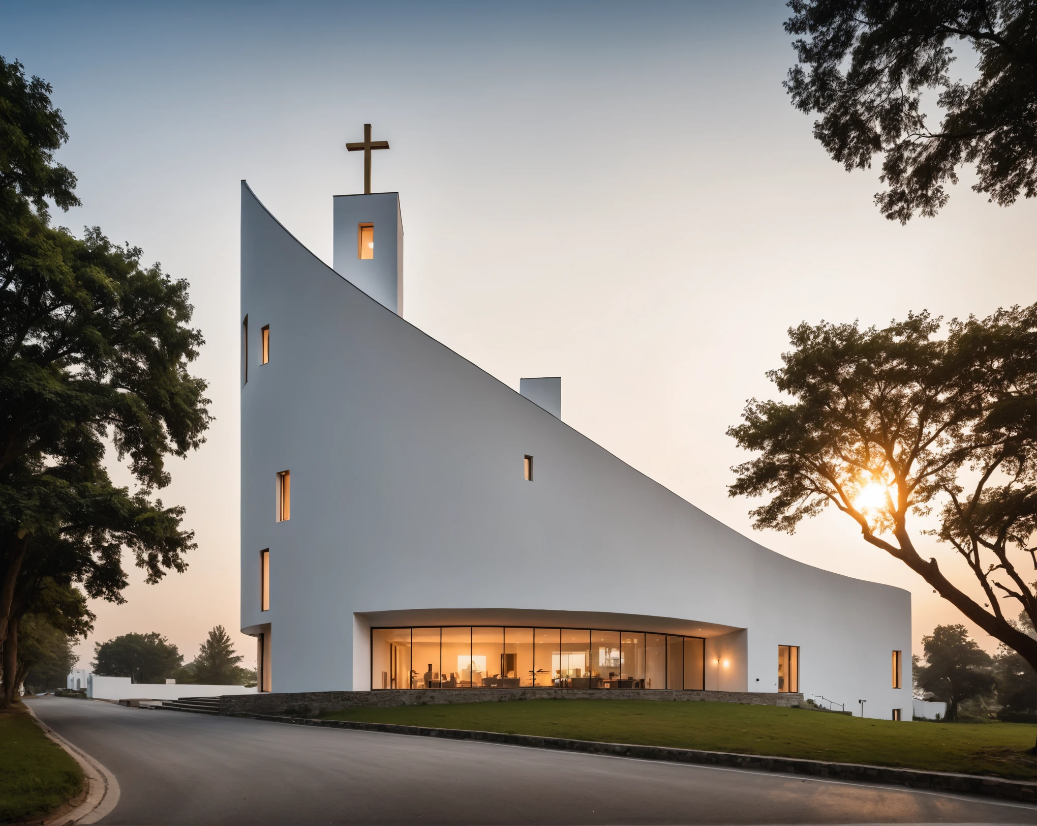
[[[559,378],[516,392],[429,337],[397,194],[334,211],[333,269],[242,183],[262,690],[791,691],[910,719],[908,593],[767,550],[567,425]]]

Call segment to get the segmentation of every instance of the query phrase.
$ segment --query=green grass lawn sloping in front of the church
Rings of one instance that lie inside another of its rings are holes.
[[[862,720],[732,703],[536,699],[351,709],[325,717],[1037,779],[1037,725]]]

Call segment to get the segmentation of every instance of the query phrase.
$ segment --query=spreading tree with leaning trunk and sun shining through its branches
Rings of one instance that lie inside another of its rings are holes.
[[[733,468],[728,493],[769,495],[751,512],[754,527],[789,533],[835,506],[1037,667],[1037,639],[1010,618],[1019,608],[1037,617],[1022,573],[1037,568],[1037,305],[953,321],[946,338],[940,330],[924,312],[884,329],[789,330],[784,366],[767,376],[792,401],[751,400],[728,430],[759,453]],[[982,602],[919,553],[909,521],[930,514]]]

